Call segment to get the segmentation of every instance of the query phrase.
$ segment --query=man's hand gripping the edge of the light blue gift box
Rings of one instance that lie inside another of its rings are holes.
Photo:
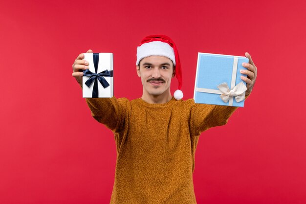
[[[257,77],[257,67],[255,66],[251,55],[248,52],[245,52],[245,57],[249,58],[249,63],[242,63],[242,66],[247,68],[247,70],[241,69],[240,73],[245,74],[245,76],[241,76],[241,79],[246,82],[245,95],[249,95],[252,92],[254,87],[256,77]]]

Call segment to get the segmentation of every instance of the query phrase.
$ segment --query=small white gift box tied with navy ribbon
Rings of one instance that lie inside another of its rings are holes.
[[[84,56],[84,60],[89,63],[89,70],[86,70],[83,76],[83,98],[111,98],[113,96],[112,53],[84,53]]]

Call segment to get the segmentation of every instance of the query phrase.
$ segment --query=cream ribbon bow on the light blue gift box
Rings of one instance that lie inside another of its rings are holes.
[[[220,95],[220,98],[225,103],[227,103],[231,97],[232,98],[235,97],[235,100],[237,101],[237,103],[239,103],[240,101],[243,101],[245,91],[247,90],[243,82],[240,82],[239,84],[237,84],[232,90],[229,89],[229,87],[227,86],[225,82],[218,85],[217,87],[222,92],[222,94]]]

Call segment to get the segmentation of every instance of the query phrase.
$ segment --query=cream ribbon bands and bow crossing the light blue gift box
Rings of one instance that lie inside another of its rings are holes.
[[[239,84],[235,86],[236,76],[237,76],[237,66],[238,66],[238,57],[234,57],[231,89],[229,89],[228,85],[224,82],[217,86],[219,90],[196,88],[196,91],[204,92],[204,93],[220,94],[220,98],[222,99],[222,101],[224,103],[229,102],[228,103],[229,106],[233,106],[234,97],[237,103],[239,103],[240,101],[243,101],[244,96],[245,96],[245,91],[247,90],[247,88],[243,84],[243,82],[240,82]]]

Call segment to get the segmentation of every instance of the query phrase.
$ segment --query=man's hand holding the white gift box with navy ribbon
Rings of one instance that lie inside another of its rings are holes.
[[[92,53],[92,50],[89,49],[87,51],[87,53]],[[72,76],[75,77],[75,79],[77,80],[77,82],[80,84],[80,86],[82,87],[82,77],[84,75],[83,70],[86,70],[89,65],[89,63],[84,59],[84,54],[79,54],[79,56],[74,60],[74,63],[72,65],[73,68],[73,73]]]

